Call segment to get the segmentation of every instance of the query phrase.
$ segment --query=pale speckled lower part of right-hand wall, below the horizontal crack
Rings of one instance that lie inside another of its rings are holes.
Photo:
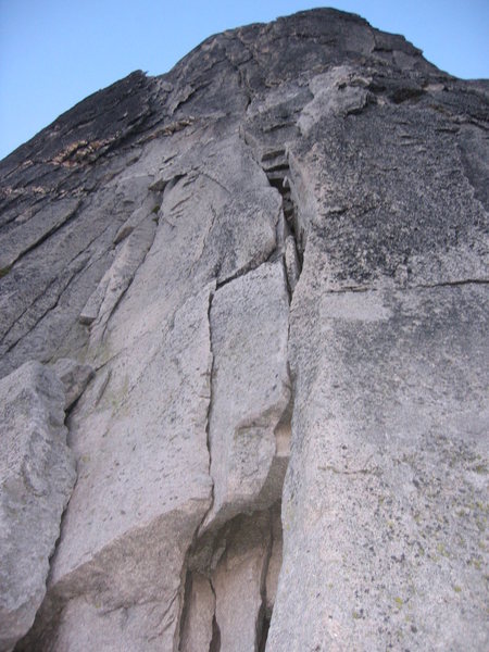
[[[482,650],[486,290],[299,283],[292,360],[311,374],[267,649]]]

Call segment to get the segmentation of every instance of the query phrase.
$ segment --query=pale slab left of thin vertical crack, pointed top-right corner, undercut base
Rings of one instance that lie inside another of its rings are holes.
[[[99,605],[113,612],[114,628],[131,605],[154,603],[155,614],[165,613],[160,647],[178,631],[181,567],[210,504],[209,294],[210,288],[189,298],[172,323],[121,353],[96,409],[84,394],[70,422],[78,481],[52,562],[51,591],[66,601],[82,590],[91,605],[87,618],[96,618]],[[75,614],[68,600],[58,616],[66,631],[76,628]],[[134,636],[151,638],[154,618],[143,618]],[[95,622],[103,628],[103,620]],[[114,639],[124,636],[123,627]]]

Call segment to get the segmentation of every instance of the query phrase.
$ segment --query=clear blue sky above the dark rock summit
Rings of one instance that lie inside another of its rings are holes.
[[[134,70],[164,73],[211,34],[321,5],[403,34],[453,75],[489,77],[489,0],[0,0],[0,159]]]

